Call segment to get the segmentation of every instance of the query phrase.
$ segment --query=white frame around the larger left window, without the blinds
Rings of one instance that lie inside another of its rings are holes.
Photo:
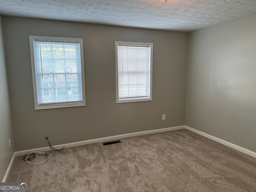
[[[81,77],[82,77],[82,101],[38,104],[37,86],[36,86],[36,68],[35,68],[35,60],[34,60],[34,40],[52,41],[52,42],[70,42],[70,43],[79,42],[80,57],[81,57],[80,59],[81,59]],[[35,110],[85,106],[83,39],[81,39],[81,38],[46,37],[46,36],[29,36],[29,41],[30,41],[30,58],[31,58],[31,68],[32,68],[32,81],[33,81]]]

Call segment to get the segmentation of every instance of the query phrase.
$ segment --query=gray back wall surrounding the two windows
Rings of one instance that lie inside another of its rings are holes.
[[[3,17],[16,150],[185,124],[188,34]],[[86,106],[34,110],[29,35],[83,38]],[[153,100],[116,104],[115,41],[152,42]],[[166,120],[162,120],[166,114]]]

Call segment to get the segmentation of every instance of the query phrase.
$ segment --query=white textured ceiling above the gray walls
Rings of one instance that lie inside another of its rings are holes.
[[[0,14],[192,31],[256,11],[256,0],[0,0]]]

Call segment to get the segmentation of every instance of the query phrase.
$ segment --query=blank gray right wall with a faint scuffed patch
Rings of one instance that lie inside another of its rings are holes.
[[[190,32],[186,125],[256,152],[256,13]]]

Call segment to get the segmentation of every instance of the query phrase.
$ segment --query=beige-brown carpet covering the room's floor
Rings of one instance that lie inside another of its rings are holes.
[[[6,182],[28,182],[30,192],[256,191],[256,158],[194,132],[175,130],[121,142],[65,148],[36,165],[18,156]]]

